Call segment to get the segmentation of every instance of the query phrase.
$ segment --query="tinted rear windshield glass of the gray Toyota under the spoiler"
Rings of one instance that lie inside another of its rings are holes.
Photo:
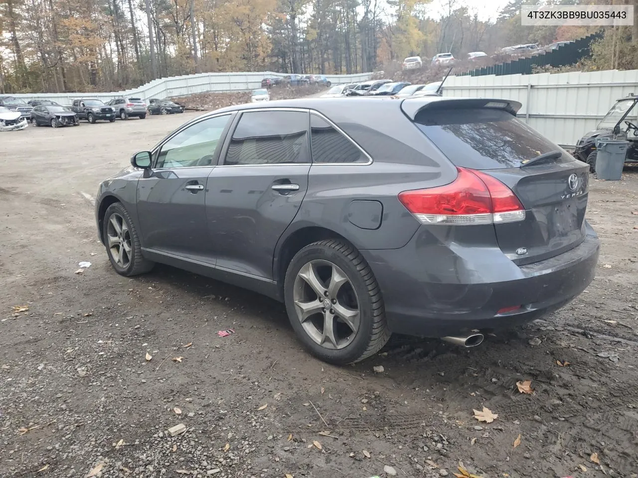
[[[415,124],[455,166],[475,170],[519,168],[541,154],[560,150],[524,122],[490,108],[424,110]],[[556,163],[574,161],[563,153]]]

